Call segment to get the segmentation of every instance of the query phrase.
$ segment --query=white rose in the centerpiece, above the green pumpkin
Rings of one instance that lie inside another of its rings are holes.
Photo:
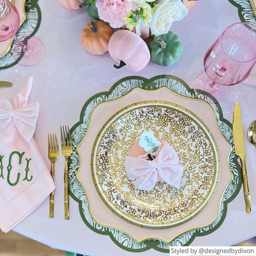
[[[150,22],[151,33],[159,36],[170,30],[172,22],[182,20],[188,14],[188,10],[181,0],[159,0],[153,12]]]

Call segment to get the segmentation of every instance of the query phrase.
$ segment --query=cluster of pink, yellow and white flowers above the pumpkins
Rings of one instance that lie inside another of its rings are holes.
[[[127,26],[129,30],[143,25],[158,36],[167,33],[173,22],[181,20],[188,9],[180,0],[89,0],[98,16],[112,28]]]

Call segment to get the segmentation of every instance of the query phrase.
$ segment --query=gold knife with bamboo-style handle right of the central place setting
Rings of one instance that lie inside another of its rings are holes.
[[[242,166],[242,183],[244,185],[244,199],[246,201],[246,212],[250,210],[250,193],[246,172],[246,147],[244,146],[244,132],[242,131],[242,116],[240,103],[236,103],[233,113],[233,135],[234,151],[241,159]]]

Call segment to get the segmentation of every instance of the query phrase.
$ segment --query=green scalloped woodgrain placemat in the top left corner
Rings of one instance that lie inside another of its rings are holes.
[[[23,22],[22,26],[20,26],[16,36],[17,38],[26,36],[26,39],[29,39],[38,31],[41,23],[41,10],[38,5],[38,0],[26,0],[25,11],[26,20]],[[14,55],[18,57],[17,60],[15,60]],[[13,41],[9,52],[0,58],[0,71],[16,65],[22,56],[21,47],[14,47]]]

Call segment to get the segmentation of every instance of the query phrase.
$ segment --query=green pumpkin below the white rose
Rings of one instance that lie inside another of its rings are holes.
[[[151,60],[163,66],[171,66],[178,62],[183,52],[180,38],[171,31],[153,36],[149,48]]]

